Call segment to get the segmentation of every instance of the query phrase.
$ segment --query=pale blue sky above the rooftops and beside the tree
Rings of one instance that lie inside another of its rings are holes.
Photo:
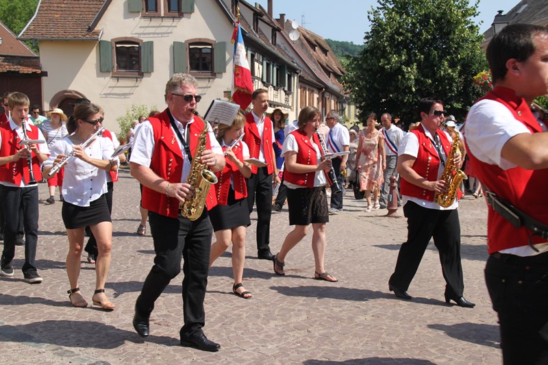
[[[471,0],[472,2],[473,0]],[[251,0],[250,3],[260,3],[267,9],[267,0]],[[479,16],[475,22],[479,24],[480,32],[485,32],[497,10],[509,12],[519,0],[480,0]],[[372,6],[377,6],[375,0],[273,0],[274,18],[280,13],[286,14],[286,19],[295,20],[299,25],[304,21],[304,27],[312,32],[333,40],[346,40],[362,44],[364,33],[369,29],[367,12]]]

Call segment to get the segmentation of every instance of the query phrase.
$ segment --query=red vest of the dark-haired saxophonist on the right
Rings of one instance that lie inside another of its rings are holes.
[[[419,139],[419,153],[416,155],[416,160],[412,167],[413,170],[428,181],[436,181],[438,179],[440,158],[434,143],[426,136],[422,124],[409,133],[414,134],[416,138]],[[445,151],[445,155],[449,155],[449,151],[451,150],[451,142],[449,142],[447,134],[440,130],[437,130],[436,134],[440,137],[440,142],[443,147],[443,151]],[[408,197],[434,201],[434,191],[420,188],[419,186],[411,184],[406,179],[401,179],[400,191],[402,195],[407,195]],[[460,192],[457,198],[460,198]]]

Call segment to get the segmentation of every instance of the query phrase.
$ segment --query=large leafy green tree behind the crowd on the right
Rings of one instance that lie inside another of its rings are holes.
[[[486,69],[482,35],[469,0],[379,0],[368,13],[365,48],[349,58],[345,86],[360,109],[390,112],[406,123],[419,118],[422,97],[436,96],[464,118],[479,97],[473,77]]]

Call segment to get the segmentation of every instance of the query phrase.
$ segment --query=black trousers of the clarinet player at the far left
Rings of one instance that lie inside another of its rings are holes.
[[[36,268],[36,246],[38,244],[38,186],[27,188],[12,188],[2,186],[0,190],[4,223],[4,248],[2,251],[1,266],[10,264],[15,256],[15,240],[19,230],[21,218],[25,229],[25,264],[23,273]],[[23,210],[23,215],[16,214]]]

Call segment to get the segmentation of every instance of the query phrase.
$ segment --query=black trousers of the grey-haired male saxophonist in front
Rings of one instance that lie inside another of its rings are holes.
[[[149,224],[154,242],[154,266],[137,298],[136,310],[141,315],[152,312],[154,302],[181,272],[183,264],[183,319],[181,335],[194,336],[206,322],[203,299],[208,286],[208,270],[213,227],[206,209],[196,221],[162,216],[149,211]]]

